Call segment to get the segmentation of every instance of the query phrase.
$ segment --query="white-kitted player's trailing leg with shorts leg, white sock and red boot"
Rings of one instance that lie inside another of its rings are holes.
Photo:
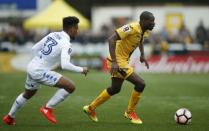
[[[3,117],[3,122],[8,125],[15,125],[15,115],[16,112],[21,109],[21,107],[30,99],[36,92],[39,87],[39,84],[36,83],[31,78],[27,77],[25,84],[25,92],[21,93],[16,100],[14,101],[9,113]]]

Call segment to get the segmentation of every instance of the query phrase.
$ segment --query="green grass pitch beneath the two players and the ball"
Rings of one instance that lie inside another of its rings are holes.
[[[16,115],[16,126],[0,122],[0,131],[207,131],[209,130],[209,74],[140,74],[146,88],[137,106],[143,125],[123,117],[133,86],[125,82],[121,92],[97,108],[98,123],[90,121],[82,107],[109,86],[107,73],[90,72],[87,77],[61,72],[76,84],[75,92],[55,110],[58,124],[50,124],[39,108],[56,89],[43,86]],[[24,90],[26,74],[0,73],[0,117],[8,113],[17,95]],[[175,111],[186,107],[192,123],[178,125]]]

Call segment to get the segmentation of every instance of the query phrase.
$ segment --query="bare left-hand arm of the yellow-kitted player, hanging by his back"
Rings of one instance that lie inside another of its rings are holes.
[[[119,66],[118,66],[117,60],[116,60],[116,56],[115,56],[115,48],[116,48],[116,41],[117,40],[120,40],[120,37],[118,36],[118,34],[116,32],[114,32],[108,38],[109,51],[110,51],[110,56],[112,58],[112,67],[111,67],[111,70],[110,70],[111,74],[115,74],[119,69]]]

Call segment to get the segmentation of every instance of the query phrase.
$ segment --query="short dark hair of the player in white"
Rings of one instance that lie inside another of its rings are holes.
[[[75,16],[68,16],[62,19],[62,26],[64,30],[67,30],[68,28],[75,26],[78,23],[79,23],[79,19]]]

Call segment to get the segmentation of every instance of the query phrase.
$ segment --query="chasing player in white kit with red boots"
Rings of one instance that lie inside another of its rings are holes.
[[[59,62],[62,69],[81,72],[84,75],[88,73],[87,67],[79,67],[70,63],[72,52],[70,40],[77,35],[78,23],[77,17],[63,18],[63,31],[48,34],[32,47],[35,56],[27,67],[25,91],[16,98],[9,113],[3,117],[5,124],[16,124],[16,112],[36,93],[41,84],[59,88],[48,103],[40,108],[40,112],[51,123],[57,123],[53,116],[53,108],[75,90],[75,85],[61,74],[52,71],[54,66]]]

